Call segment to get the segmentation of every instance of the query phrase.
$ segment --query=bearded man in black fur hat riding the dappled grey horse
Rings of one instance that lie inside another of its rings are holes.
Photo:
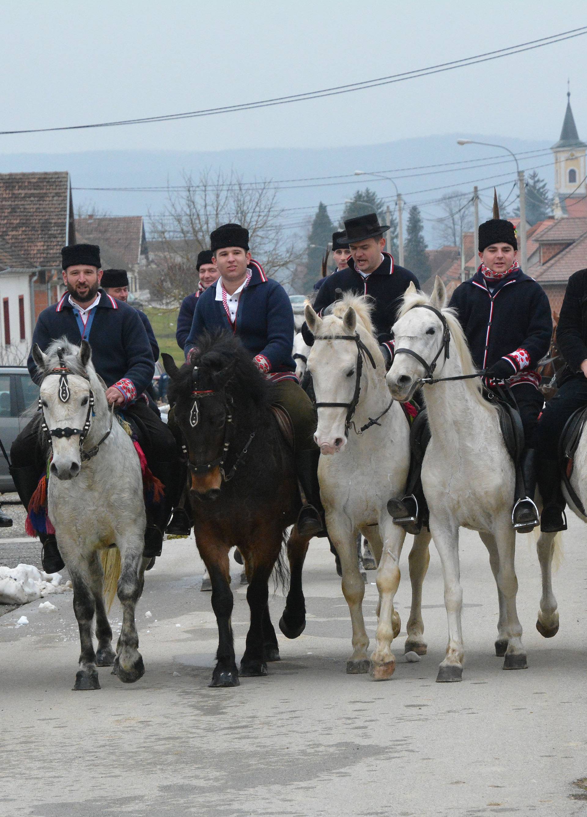
[[[153,377],[153,353],[149,338],[136,310],[115,301],[100,288],[102,270],[100,248],[95,244],[75,244],[61,250],[63,281],[67,292],[59,303],[47,306],[38,316],[33,332],[42,351],[60,337],[75,344],[82,338],[91,346],[96,372],[106,384],[106,400],[122,408],[135,422],[140,444],[153,474],[165,486],[162,502],[147,511],[144,556],[161,553],[162,537],[179,498],[183,472],[171,431],[147,406],[141,395]],[[32,355],[29,372],[35,382],[39,373]],[[38,417],[20,432],[11,448],[11,475],[24,507],[47,468],[47,449],[39,441]],[[42,536],[42,566],[55,573],[63,565],[54,535]]]

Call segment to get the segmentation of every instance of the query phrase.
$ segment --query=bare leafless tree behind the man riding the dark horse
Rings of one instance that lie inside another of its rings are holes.
[[[183,182],[180,189],[169,188],[164,211],[152,217],[154,268],[146,276],[151,297],[171,305],[193,292],[198,252],[210,246],[211,231],[228,222],[247,228],[252,255],[267,275],[291,283],[303,249],[287,234],[271,181],[247,184],[234,171],[205,170],[197,179],[185,172]]]

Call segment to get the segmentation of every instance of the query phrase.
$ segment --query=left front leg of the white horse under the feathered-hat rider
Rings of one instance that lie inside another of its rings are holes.
[[[447,608],[448,644],[447,654],[438,667],[437,683],[461,681],[463,677],[463,632],[460,612],[463,605],[463,588],[460,586],[459,529],[442,524],[430,512],[430,531],[442,563],[444,578],[444,606]]]

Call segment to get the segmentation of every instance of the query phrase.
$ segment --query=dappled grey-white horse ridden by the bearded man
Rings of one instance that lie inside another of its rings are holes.
[[[86,341],[79,347],[62,337],[51,343],[47,354],[35,344],[33,359],[42,374],[42,431],[52,447],[47,515],[73,584],[82,646],[73,689],[99,690],[96,667],[114,665],[121,681],[137,681],[145,666],[137,649],[135,607],[149,561],[142,557],[146,519],[139,457],[131,437],[113,422],[105,384],[91,364]],[[120,553],[114,580],[123,611],[116,655],[99,557],[100,550],[114,543]]]

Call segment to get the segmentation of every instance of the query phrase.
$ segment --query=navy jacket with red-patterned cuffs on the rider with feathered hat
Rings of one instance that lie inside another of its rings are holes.
[[[504,357],[514,373],[534,372],[549,350],[553,322],[546,292],[522,270],[506,275],[489,292],[478,270],[453,292],[456,309],[477,368]]]

